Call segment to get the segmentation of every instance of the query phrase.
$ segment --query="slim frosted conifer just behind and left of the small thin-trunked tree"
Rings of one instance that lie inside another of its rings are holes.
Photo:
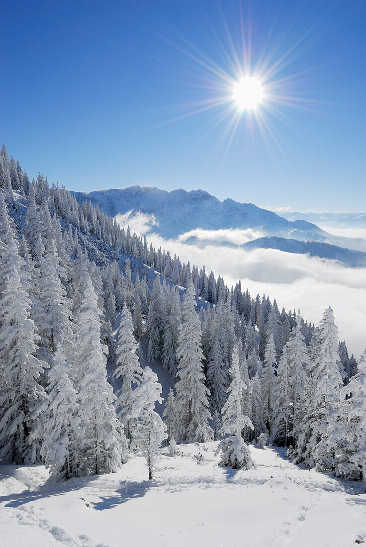
[[[121,322],[118,331],[117,363],[113,373],[115,379],[121,382],[117,389],[115,407],[117,415],[123,424],[125,435],[131,441],[135,420],[132,418],[132,406],[136,401],[136,389],[132,390],[132,384],[140,385],[142,368],[136,355],[137,342],[133,336],[133,325],[130,311],[126,304],[121,312]]]

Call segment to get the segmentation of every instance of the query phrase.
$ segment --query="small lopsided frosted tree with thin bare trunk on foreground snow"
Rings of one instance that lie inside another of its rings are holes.
[[[132,416],[136,419],[132,447],[146,453],[149,480],[153,478],[154,459],[167,437],[165,424],[154,410],[155,403],[161,403],[162,400],[158,376],[146,366],[141,383],[136,388],[136,401],[132,407]]]

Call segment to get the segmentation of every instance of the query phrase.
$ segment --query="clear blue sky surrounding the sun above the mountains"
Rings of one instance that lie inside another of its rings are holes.
[[[303,38],[275,76],[302,108],[266,113],[268,141],[243,113],[228,148],[224,107],[184,116],[217,94],[193,56],[230,73],[240,13],[254,64]],[[364,0],[27,0],[4,2],[1,19],[0,139],[31,176],[72,190],[203,188],[261,206],[366,210]]]

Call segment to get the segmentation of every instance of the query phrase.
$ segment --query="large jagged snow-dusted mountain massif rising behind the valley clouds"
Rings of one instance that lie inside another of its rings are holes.
[[[131,186],[91,193],[75,192],[74,195],[79,204],[90,200],[111,216],[130,211],[153,215],[157,223],[154,231],[165,238],[177,237],[196,228],[252,228],[262,230],[265,235],[297,237],[300,240],[325,237],[323,230],[315,224],[302,220],[292,222],[252,203],[231,199],[219,201],[204,190],[167,192]]]

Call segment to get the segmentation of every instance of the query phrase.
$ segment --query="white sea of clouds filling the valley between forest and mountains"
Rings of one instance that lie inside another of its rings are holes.
[[[138,221],[142,229],[151,230],[151,219],[147,223],[142,220]],[[240,245],[241,238],[249,238],[246,232],[193,230],[175,240],[164,240],[150,232],[148,240],[155,247],[169,249],[172,255],[176,253],[185,263],[189,260],[199,267],[205,265],[206,270],[222,275],[229,287],[240,279],[242,288],[248,288],[253,296],[268,294],[271,300],[276,298],[280,309],[300,308],[305,319],[315,324],[326,307],[332,306],[339,336],[358,358],[366,346],[366,269],[346,268],[335,261],[276,249],[244,251],[223,245],[228,241]],[[197,245],[186,243],[192,236],[199,241]]]

